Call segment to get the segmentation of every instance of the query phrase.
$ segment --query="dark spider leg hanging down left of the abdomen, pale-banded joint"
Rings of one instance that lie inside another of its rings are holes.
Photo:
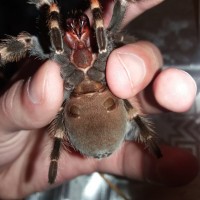
[[[51,122],[49,126],[49,132],[54,137],[53,149],[50,155],[50,165],[49,165],[49,173],[48,173],[48,182],[53,184],[57,177],[58,171],[58,159],[60,158],[60,151],[65,140],[65,125],[64,125],[64,116],[63,116],[63,106],[60,108],[56,118]]]

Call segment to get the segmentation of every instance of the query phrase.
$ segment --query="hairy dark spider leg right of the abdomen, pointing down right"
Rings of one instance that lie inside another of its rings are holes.
[[[135,122],[140,129],[140,133],[136,135],[137,140],[141,143],[144,143],[146,148],[157,158],[161,158],[162,153],[158,146],[157,135],[152,128],[151,122],[149,122],[149,120],[147,120],[145,117],[140,116],[139,112],[134,109],[127,100],[124,100],[124,102],[130,121]]]

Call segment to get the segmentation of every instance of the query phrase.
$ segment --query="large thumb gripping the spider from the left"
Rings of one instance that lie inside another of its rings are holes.
[[[59,66],[47,61],[33,77],[16,82],[0,98],[0,127],[8,132],[43,127],[56,115],[62,98]]]

